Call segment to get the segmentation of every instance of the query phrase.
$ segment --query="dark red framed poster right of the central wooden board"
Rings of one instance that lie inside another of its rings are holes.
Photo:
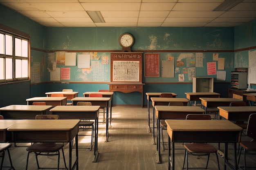
[[[144,77],[159,77],[159,53],[145,53]]]

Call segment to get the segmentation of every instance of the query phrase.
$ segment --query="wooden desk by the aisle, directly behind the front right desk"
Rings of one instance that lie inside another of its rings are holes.
[[[205,110],[192,106],[155,106],[157,116],[157,163],[161,163],[160,120],[161,119],[186,119],[188,114],[204,114]]]

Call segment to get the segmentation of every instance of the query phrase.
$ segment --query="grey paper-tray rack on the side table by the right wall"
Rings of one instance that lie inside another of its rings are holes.
[[[247,72],[231,72],[231,88],[247,89]]]

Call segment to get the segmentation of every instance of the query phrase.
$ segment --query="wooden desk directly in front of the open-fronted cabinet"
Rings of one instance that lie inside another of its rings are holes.
[[[189,99],[189,106],[192,106],[193,101],[200,101],[200,97],[220,97],[219,93],[215,92],[193,92],[193,93],[185,93],[186,98]]]

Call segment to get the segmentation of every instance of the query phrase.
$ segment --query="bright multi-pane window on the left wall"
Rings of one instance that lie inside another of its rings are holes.
[[[0,29],[0,83],[29,80],[29,38]]]

